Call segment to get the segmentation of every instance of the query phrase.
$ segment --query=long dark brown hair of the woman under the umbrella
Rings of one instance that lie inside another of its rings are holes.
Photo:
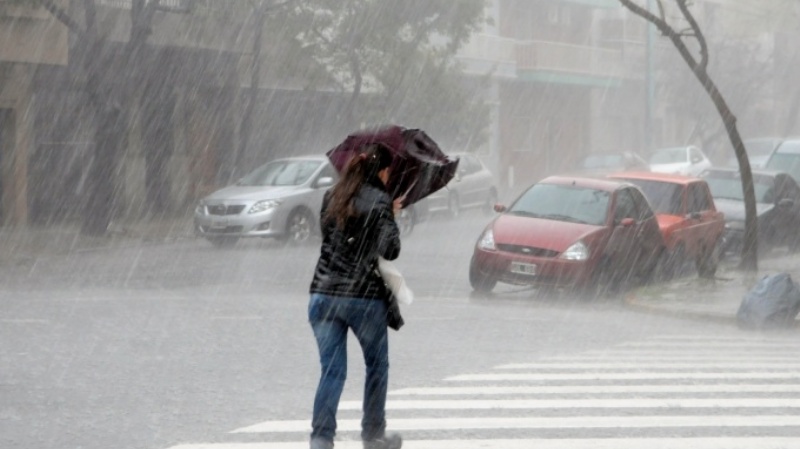
[[[367,181],[377,180],[378,172],[391,164],[392,152],[386,145],[365,145],[359,154],[350,159],[342,177],[331,189],[326,217],[335,219],[336,226],[343,229],[347,219],[357,213],[353,200],[358,189]]]

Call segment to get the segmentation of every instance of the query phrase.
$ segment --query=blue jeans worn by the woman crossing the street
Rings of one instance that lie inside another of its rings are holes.
[[[367,375],[364,384],[361,438],[380,438],[386,430],[386,391],[389,383],[389,339],[386,302],[314,293],[308,302],[308,321],[319,348],[322,373],[314,398],[311,438],[333,441],[336,410],[347,378],[347,330],[361,345]]]

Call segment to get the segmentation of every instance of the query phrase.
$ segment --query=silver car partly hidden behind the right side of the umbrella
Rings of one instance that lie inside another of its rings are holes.
[[[418,203],[418,218],[438,212],[457,217],[462,210],[482,208],[487,214],[494,211],[497,185],[486,165],[474,154],[452,153],[457,158],[458,173],[444,189],[438,190]]]

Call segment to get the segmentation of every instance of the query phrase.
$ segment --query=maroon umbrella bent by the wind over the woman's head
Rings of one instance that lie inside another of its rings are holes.
[[[353,156],[371,143],[382,143],[392,150],[394,160],[387,188],[392,198],[405,195],[403,207],[441,189],[456,175],[458,159],[450,159],[424,131],[402,126],[350,134],[328,151],[328,159],[341,172]]]

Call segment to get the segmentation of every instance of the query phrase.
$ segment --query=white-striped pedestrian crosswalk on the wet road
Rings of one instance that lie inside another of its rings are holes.
[[[361,401],[342,401],[338,449],[360,448]],[[800,449],[800,339],[652,337],[500,365],[389,393],[406,449]],[[233,429],[169,449],[301,449],[309,420]]]

